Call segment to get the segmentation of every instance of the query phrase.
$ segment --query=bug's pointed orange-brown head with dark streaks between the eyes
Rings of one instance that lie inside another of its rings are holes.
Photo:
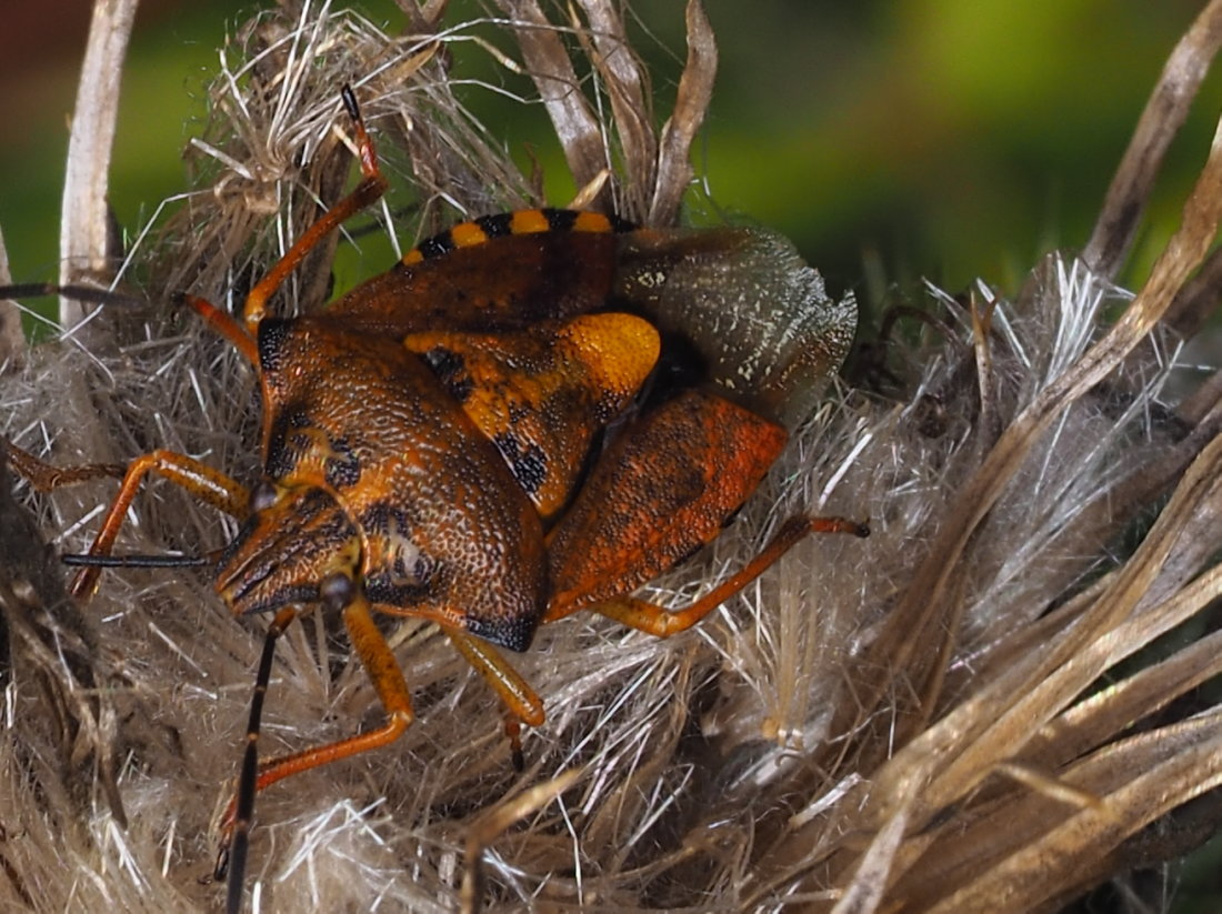
[[[264,481],[221,556],[216,591],[237,616],[319,602],[325,580],[354,578],[359,563],[359,533],[331,495]]]

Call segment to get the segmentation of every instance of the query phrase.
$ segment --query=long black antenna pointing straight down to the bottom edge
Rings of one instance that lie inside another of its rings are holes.
[[[221,826],[221,849],[216,855],[215,879],[227,879],[225,892],[226,914],[242,910],[242,890],[246,887],[246,855],[251,844],[251,820],[254,816],[254,794],[259,789],[259,726],[263,718],[263,699],[268,694],[271,678],[271,660],[276,653],[276,640],[297,617],[293,606],[286,606],[268,626],[259,657],[259,672],[251,695],[251,718],[246,725],[246,751],[237,781],[237,795],[230,804]]]

